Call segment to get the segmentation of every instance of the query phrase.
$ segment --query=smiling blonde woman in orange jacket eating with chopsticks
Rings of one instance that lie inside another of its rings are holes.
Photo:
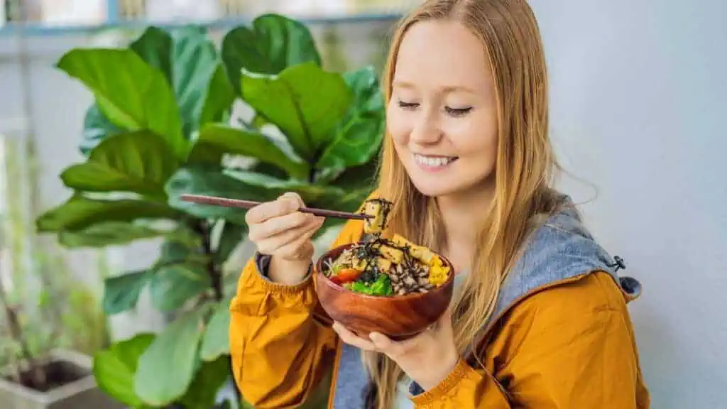
[[[385,76],[375,196],[389,232],[438,250],[459,291],[409,341],[358,338],[318,309],[295,194],[249,210],[258,253],[233,300],[236,382],[293,408],[333,371],[329,408],[648,408],[627,301],[638,282],[550,186],[547,76],[524,0],[427,1],[398,28]],[[361,237],[347,223],[333,246]]]

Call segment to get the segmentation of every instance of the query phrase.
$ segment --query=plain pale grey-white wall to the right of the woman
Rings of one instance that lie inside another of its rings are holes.
[[[724,408],[727,3],[531,4],[561,159],[598,188],[590,226],[643,285],[630,308],[652,407]]]

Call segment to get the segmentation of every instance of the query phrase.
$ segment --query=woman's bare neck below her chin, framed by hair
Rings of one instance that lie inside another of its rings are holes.
[[[446,247],[443,251],[457,271],[470,269],[475,257],[478,234],[493,196],[494,188],[481,188],[467,194],[437,198],[446,231]]]

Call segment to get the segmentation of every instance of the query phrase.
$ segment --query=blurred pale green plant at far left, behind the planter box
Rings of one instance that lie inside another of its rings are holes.
[[[36,180],[31,144],[3,142],[7,213],[0,215],[0,250],[12,271],[0,270],[0,368],[18,384],[46,390],[57,381],[46,372],[53,349],[93,354],[108,345],[108,332],[95,293],[72,276],[57,248],[34,237],[25,200]]]

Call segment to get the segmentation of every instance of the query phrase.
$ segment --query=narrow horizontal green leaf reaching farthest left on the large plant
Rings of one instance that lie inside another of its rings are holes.
[[[180,215],[182,213],[178,210],[159,202],[134,199],[89,199],[76,193],[65,203],[48,210],[37,218],[36,228],[38,231],[76,231],[101,222],[130,222],[153,218],[174,219]]]

